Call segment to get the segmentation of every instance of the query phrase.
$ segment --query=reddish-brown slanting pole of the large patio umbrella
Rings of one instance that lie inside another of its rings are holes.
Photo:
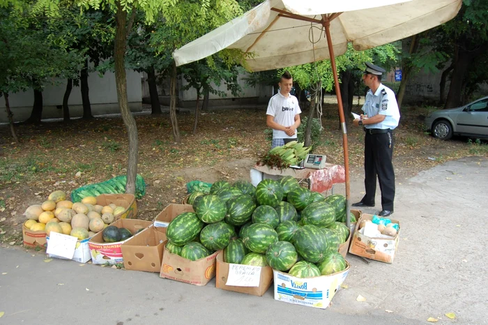
[[[334,48],[332,44],[332,39],[330,38],[330,20],[328,17],[324,17],[323,27],[326,28],[326,36],[327,36],[327,44],[329,48],[329,55],[330,55],[330,65],[332,66],[332,72],[334,75],[334,84],[335,84],[335,94],[337,96],[337,104],[339,106],[339,119],[342,128],[342,143],[344,146],[344,169],[346,174],[346,226],[350,228],[350,214],[351,214],[351,204],[350,204],[350,197],[351,197],[351,186],[349,182],[349,153],[347,150],[347,129],[346,129],[346,120],[344,118],[344,108],[342,107],[342,97],[341,97],[341,90],[339,86],[339,78],[337,77],[337,68],[335,67],[335,57],[334,57]]]

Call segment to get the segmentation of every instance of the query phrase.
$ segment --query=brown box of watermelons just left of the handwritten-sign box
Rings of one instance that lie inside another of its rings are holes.
[[[190,261],[179,255],[171,254],[166,248],[162,252],[160,278],[190,283],[190,285],[206,285],[215,276],[215,259],[220,251],[212,255]]]

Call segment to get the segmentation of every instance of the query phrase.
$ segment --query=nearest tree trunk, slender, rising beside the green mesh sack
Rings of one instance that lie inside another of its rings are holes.
[[[127,79],[125,77],[125,47],[127,45],[127,32],[125,21],[127,12],[123,10],[120,1],[116,1],[116,29],[114,45],[115,84],[117,88],[117,99],[121,109],[123,123],[129,136],[129,158],[127,167],[127,183],[125,192],[135,194],[135,179],[137,176],[137,153],[139,139],[137,139],[137,125],[134,116],[130,112],[127,98]],[[135,8],[133,8],[135,10]]]

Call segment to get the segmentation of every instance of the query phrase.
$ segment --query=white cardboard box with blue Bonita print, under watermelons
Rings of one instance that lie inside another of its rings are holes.
[[[273,270],[275,300],[326,309],[349,274],[349,267],[347,263],[344,271],[314,278],[296,278]]]

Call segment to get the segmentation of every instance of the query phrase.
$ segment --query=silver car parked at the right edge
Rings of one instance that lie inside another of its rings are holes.
[[[462,107],[435,111],[425,118],[425,126],[443,140],[452,135],[488,138],[488,96]]]

